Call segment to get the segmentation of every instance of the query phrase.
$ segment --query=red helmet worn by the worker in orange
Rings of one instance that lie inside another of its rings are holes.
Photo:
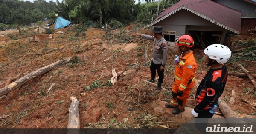
[[[194,40],[189,35],[182,35],[176,39],[176,45],[177,46],[185,45],[185,46],[191,48],[192,46],[194,46]]]

